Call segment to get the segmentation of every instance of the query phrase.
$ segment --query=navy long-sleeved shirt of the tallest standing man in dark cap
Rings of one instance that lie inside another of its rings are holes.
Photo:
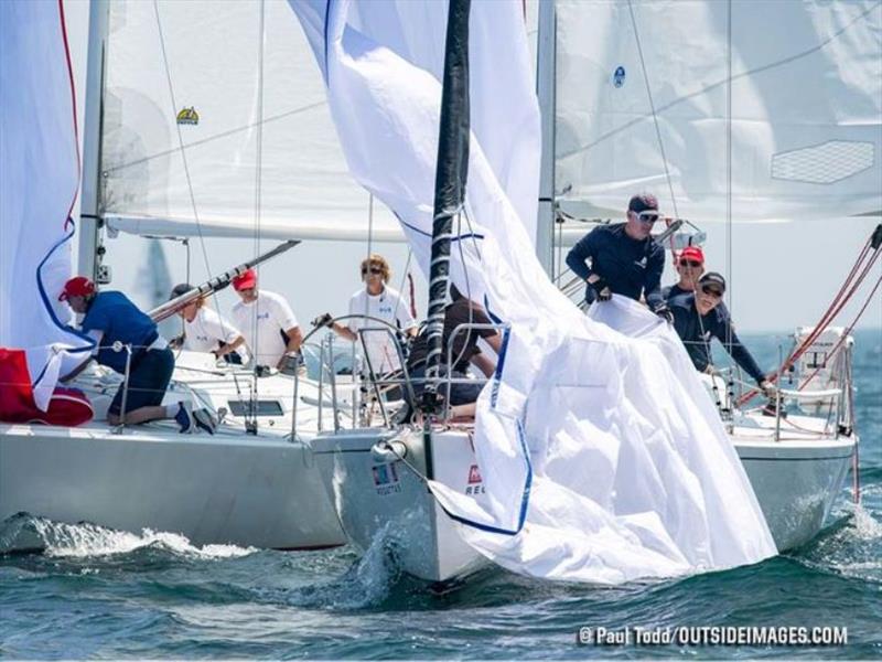
[[[585,260],[591,258],[591,267]],[[632,239],[625,224],[595,227],[567,254],[569,266],[582,279],[596,274],[616,295],[639,301],[646,297],[649,308],[665,303],[662,296],[662,271],[665,270],[665,249],[652,237]],[[594,290],[585,290],[585,301],[594,300]]]

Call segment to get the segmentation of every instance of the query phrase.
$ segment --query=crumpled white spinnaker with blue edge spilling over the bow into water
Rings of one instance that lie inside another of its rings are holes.
[[[291,6],[326,67],[354,177],[428,229],[444,3]],[[470,20],[466,207],[485,237],[466,263],[512,325],[475,426],[490,506],[434,482],[433,492],[469,522],[462,533],[476,549],[539,577],[613,584],[773,555],[743,468],[670,329],[631,301],[611,303],[603,323],[587,318],[534,256],[525,226],[536,209],[520,196],[538,188],[539,124],[520,12],[517,0],[473,2]],[[408,47],[415,35],[430,57]]]

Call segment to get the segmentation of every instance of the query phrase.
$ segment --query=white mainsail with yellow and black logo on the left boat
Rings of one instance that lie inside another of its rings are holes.
[[[112,2],[106,62],[100,170],[111,229],[367,236],[368,194],[348,174],[321,73],[286,3]],[[402,237],[379,204],[373,231]]]

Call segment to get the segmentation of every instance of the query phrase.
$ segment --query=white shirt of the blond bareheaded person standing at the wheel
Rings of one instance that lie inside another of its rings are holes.
[[[410,314],[410,308],[396,290],[384,286],[379,295],[368,295],[367,289],[361,289],[349,300],[349,314],[366,314],[379,318],[402,331],[417,327],[416,320]],[[349,331],[357,333],[358,329],[381,327],[378,322],[365,319],[351,319]],[[401,367],[398,351],[391,337],[386,331],[365,331],[365,345],[374,373],[381,375]],[[361,349],[362,343],[356,345]],[[365,366],[367,369],[367,366]]]

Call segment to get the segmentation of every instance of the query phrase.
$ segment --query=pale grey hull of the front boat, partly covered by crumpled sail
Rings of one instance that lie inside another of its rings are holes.
[[[775,441],[757,434],[732,438],[778,549],[792,549],[817,535],[841,492],[857,439]],[[406,460],[424,474],[421,436],[396,439],[407,448]],[[322,466],[331,470],[327,484],[349,541],[365,549],[377,536],[386,536],[400,567],[432,583],[460,579],[486,565],[411,469],[372,452],[375,440],[327,436],[314,441],[316,455],[333,457]],[[481,498],[467,430],[433,435],[431,456],[435,480]]]

